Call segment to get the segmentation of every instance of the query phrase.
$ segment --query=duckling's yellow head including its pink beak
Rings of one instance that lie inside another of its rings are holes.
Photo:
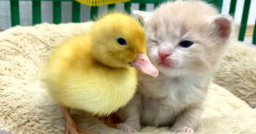
[[[91,30],[93,57],[109,67],[136,67],[148,75],[158,70],[146,55],[144,30],[128,14],[109,13],[95,22]]]

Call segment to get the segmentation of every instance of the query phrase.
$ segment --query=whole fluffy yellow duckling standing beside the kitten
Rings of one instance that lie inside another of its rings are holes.
[[[42,71],[42,80],[61,106],[65,133],[96,133],[76,127],[70,108],[100,116],[117,111],[136,92],[136,69],[158,76],[146,54],[144,30],[128,14],[105,14],[89,33],[57,46]]]

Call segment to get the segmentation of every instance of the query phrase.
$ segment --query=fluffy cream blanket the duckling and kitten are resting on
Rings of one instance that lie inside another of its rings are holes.
[[[39,81],[39,70],[53,46],[85,33],[91,23],[15,27],[0,33],[0,128],[12,133],[63,133],[63,116]],[[73,110],[80,127],[121,133]],[[144,127],[140,133],[170,133],[168,127]],[[256,133],[256,109],[212,84],[197,134]]]

